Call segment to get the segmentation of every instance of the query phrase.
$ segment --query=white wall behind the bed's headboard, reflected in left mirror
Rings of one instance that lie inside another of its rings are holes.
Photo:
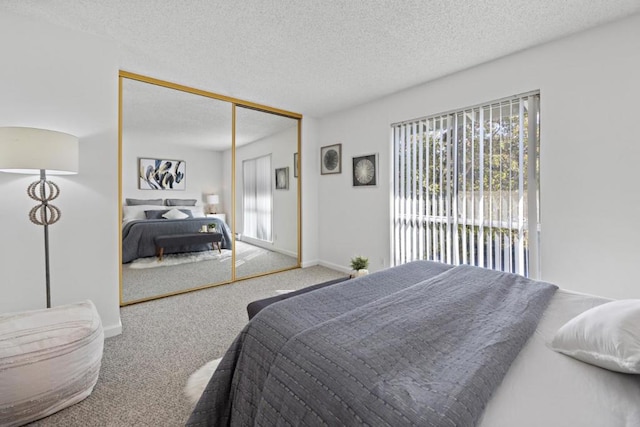
[[[183,160],[186,164],[185,190],[140,190],[138,189],[138,158]],[[122,138],[122,197],[124,199],[196,199],[205,206],[207,194],[218,194],[220,204],[217,212],[224,213],[225,206],[222,182],[222,153],[185,147],[178,144],[160,143],[142,136],[123,135]]]

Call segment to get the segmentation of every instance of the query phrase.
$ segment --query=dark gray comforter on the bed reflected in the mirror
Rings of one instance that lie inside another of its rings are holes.
[[[229,226],[218,218],[145,219],[129,221],[122,227],[122,263],[137,258],[154,256],[154,238],[163,234],[197,233],[203,225],[216,223],[222,233],[222,249],[231,249]],[[166,248],[164,253],[196,252],[210,250],[210,244]]]

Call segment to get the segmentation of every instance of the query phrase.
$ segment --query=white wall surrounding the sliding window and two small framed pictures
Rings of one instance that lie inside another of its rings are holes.
[[[540,89],[542,278],[640,297],[639,46],[634,15],[323,118],[316,150],[341,142],[343,172],[318,178],[322,263],[389,265],[391,123]],[[371,152],[380,184],[353,188],[351,158]]]

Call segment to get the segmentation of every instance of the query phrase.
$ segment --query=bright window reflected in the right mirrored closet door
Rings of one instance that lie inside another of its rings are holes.
[[[242,162],[244,237],[271,242],[271,155]]]

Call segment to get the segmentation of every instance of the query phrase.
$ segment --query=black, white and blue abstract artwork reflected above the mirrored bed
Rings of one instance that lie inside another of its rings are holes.
[[[138,159],[138,188],[141,190],[184,190],[184,160]]]

